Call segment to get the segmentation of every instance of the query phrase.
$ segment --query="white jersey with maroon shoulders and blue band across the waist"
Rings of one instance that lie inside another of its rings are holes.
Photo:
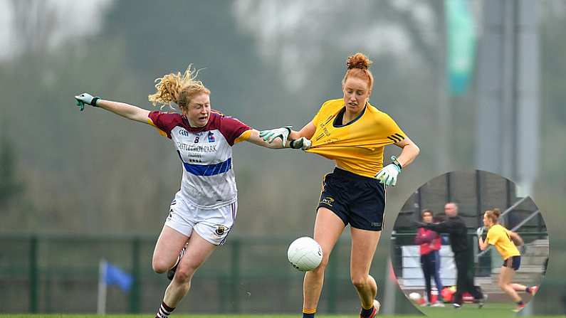
[[[161,134],[172,139],[183,165],[179,195],[199,208],[219,208],[237,199],[232,146],[251,128],[232,117],[211,112],[204,127],[191,127],[177,113],[150,112]]]

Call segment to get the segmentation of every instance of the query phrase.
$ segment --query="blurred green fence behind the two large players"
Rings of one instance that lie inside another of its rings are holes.
[[[130,292],[109,287],[108,312],[153,312],[169,284],[151,268],[153,236],[0,236],[0,312],[95,312],[101,259],[135,277]],[[196,272],[179,311],[299,312],[303,274],[288,264],[294,239],[230,237]],[[377,260],[379,258],[379,260]],[[387,251],[372,275],[384,277]],[[352,312],[350,241],[340,240],[325,275],[320,312]],[[347,287],[347,288],[345,288]]]

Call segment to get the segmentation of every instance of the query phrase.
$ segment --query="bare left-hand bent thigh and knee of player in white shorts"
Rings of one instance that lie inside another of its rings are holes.
[[[188,239],[187,235],[179,233],[169,226],[163,226],[153,250],[153,270],[162,273],[173,267]]]

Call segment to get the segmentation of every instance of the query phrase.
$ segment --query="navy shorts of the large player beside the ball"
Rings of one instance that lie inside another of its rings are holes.
[[[334,212],[345,226],[382,230],[385,186],[377,179],[335,168],[323,179],[320,207]]]

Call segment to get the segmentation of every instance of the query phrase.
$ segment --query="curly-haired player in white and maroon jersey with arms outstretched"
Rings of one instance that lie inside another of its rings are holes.
[[[182,161],[181,189],[171,203],[152,258],[153,270],[169,271],[172,279],[157,310],[158,318],[166,318],[177,307],[196,269],[224,243],[234,226],[238,206],[231,147],[242,141],[268,148],[290,144],[269,144],[256,129],[211,110],[210,90],[196,80],[196,73],[189,66],[184,74],[164,75],[157,79],[157,92],[149,96],[154,105],[176,104],[181,114],[150,112],[88,93],[75,96],[81,110],[92,105],[156,127],[172,139]],[[302,144],[295,141],[293,145]]]

